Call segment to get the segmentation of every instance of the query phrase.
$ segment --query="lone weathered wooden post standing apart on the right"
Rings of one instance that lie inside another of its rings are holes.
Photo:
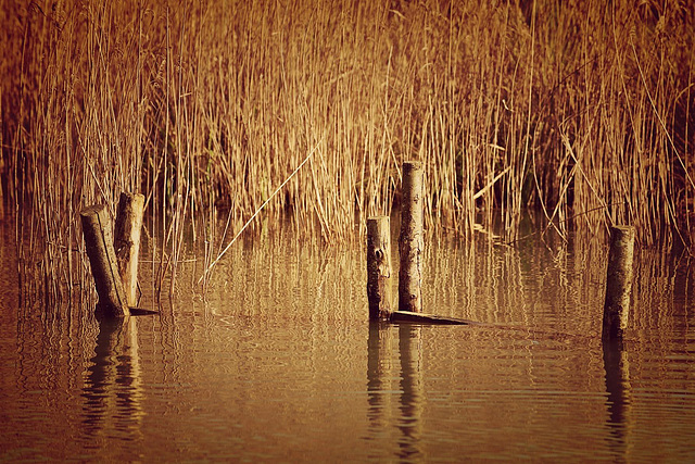
[[[632,293],[632,262],[634,254],[634,227],[610,228],[610,251],[606,275],[606,300],[604,303],[604,340],[621,339],[628,327],[630,296]]]

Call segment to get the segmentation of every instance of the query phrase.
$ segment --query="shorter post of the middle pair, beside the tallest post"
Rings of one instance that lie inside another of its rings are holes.
[[[391,223],[389,216],[367,220],[367,298],[369,319],[386,319],[390,314]]]

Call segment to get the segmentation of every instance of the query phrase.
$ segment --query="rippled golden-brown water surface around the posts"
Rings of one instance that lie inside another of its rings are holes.
[[[369,324],[362,243],[289,230],[237,243],[206,298],[187,263],[157,315],[99,327],[18,308],[10,243],[2,462],[695,461],[685,255],[639,254],[620,349],[601,343],[601,242],[429,238],[426,311],[490,323],[457,327]]]

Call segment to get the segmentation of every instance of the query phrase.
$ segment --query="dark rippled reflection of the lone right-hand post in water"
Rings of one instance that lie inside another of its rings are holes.
[[[630,425],[630,364],[622,340],[604,340],[604,367],[608,393],[608,427],[610,448],[623,462],[628,459],[628,432]]]

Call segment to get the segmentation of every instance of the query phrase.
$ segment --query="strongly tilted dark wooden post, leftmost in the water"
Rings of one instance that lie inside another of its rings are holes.
[[[100,311],[98,313],[104,317],[129,316],[128,302],[116,265],[111,218],[106,206],[97,204],[86,208],[80,216],[91,274],[99,294]]]

